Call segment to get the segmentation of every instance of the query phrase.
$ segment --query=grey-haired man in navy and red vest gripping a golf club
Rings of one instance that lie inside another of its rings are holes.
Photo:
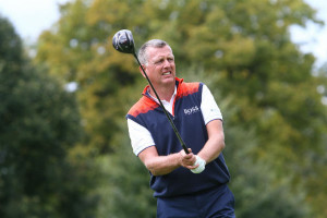
[[[166,41],[147,41],[138,59],[190,150],[181,149],[154,90],[145,87],[126,119],[133,152],[150,173],[157,217],[234,217],[221,154],[222,117],[209,89],[175,77],[174,57]]]

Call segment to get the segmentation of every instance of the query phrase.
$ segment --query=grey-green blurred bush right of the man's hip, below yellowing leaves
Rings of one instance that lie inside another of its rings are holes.
[[[232,105],[221,104],[228,111]],[[254,130],[242,130],[228,123],[225,113],[226,159],[232,174],[231,190],[234,192],[235,213],[242,218],[310,217],[303,189],[294,190],[289,178],[277,180],[270,165],[252,158],[258,146]],[[242,143],[240,143],[242,142]],[[299,205],[302,205],[299,207]]]

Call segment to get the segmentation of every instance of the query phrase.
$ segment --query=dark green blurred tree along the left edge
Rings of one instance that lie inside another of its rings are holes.
[[[0,217],[89,217],[87,168],[70,159],[82,136],[74,95],[29,64],[2,16],[0,51]]]

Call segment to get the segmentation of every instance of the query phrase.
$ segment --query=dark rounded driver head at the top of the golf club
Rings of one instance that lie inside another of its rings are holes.
[[[135,53],[134,39],[132,32],[121,29],[112,37],[112,46],[116,50],[123,53]]]

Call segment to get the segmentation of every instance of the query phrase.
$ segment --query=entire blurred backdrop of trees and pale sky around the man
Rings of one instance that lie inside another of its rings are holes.
[[[168,41],[178,76],[211,89],[238,217],[327,217],[326,3],[49,2],[0,0],[0,217],[156,216],[124,119],[146,81],[112,49],[122,28],[136,48]]]

